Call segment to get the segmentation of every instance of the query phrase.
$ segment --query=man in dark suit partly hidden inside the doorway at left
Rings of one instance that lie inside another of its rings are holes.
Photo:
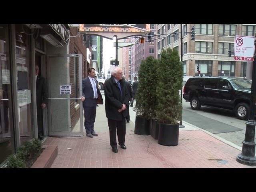
[[[36,110],[37,110],[37,128],[38,128],[38,138],[40,140],[44,139],[43,131],[43,109],[46,108],[47,104],[47,87],[46,79],[40,75],[39,67],[36,65]]]

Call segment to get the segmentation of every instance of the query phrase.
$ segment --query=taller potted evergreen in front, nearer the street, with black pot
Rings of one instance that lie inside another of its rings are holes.
[[[158,85],[156,87],[157,110],[159,121],[158,144],[178,145],[179,122],[182,118],[180,89],[182,87],[182,62],[176,49],[162,49],[159,61]],[[166,86],[168,82],[168,86]]]

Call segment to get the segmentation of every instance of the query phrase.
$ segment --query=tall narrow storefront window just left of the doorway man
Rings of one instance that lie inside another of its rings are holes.
[[[27,30],[27,31],[24,31]],[[31,106],[31,76],[30,72],[28,34],[29,29],[21,25],[15,25],[16,32],[16,67],[17,67],[17,103],[18,120],[20,129],[20,145],[32,138],[32,106]],[[26,51],[27,50],[27,51]],[[33,76],[34,77],[34,76]],[[34,77],[35,78],[35,77]]]

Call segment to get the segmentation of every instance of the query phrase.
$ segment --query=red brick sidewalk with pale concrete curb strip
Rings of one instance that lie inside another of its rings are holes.
[[[118,146],[118,153],[112,152],[103,104],[97,107],[97,137],[48,137],[43,145],[58,145],[52,168],[256,168],[236,161],[240,146],[187,122],[182,121],[185,128],[180,128],[177,146],[162,146],[151,135],[134,134],[134,124],[135,112],[130,107],[127,149]]]

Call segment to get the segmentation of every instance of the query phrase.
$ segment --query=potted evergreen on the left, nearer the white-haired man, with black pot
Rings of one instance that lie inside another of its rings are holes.
[[[134,111],[136,112],[134,133],[139,135],[151,134],[152,106],[156,102],[156,59],[152,56],[142,60],[138,71],[139,84],[136,93],[136,103]]]

